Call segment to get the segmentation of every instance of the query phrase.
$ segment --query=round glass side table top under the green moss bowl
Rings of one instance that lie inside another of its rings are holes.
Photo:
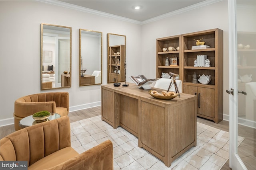
[[[58,118],[60,118],[60,115],[58,113],[51,113],[50,117],[48,117],[48,119],[46,119],[46,121],[50,121],[50,120],[58,119]],[[46,121],[43,121],[43,122],[46,122]],[[24,117],[23,119],[21,119],[19,122],[19,126],[24,128],[24,127],[36,125],[38,123],[42,123],[42,122],[36,122],[33,119],[32,115],[30,115],[30,116],[27,116],[27,117]]]

